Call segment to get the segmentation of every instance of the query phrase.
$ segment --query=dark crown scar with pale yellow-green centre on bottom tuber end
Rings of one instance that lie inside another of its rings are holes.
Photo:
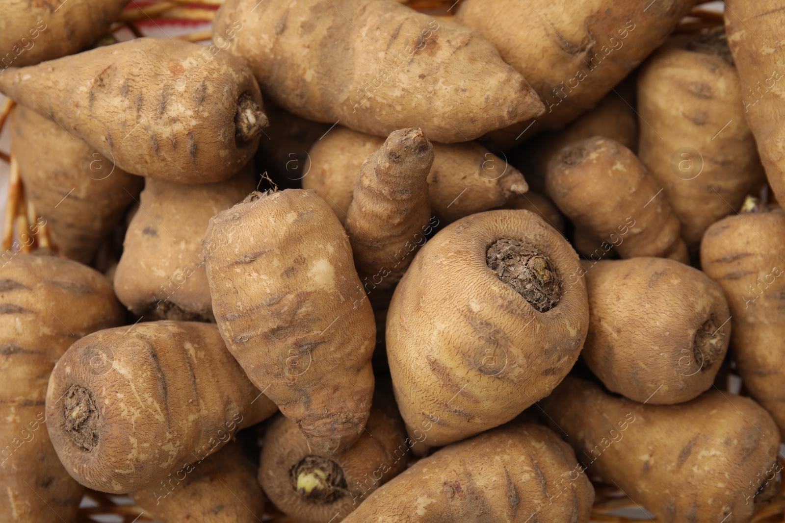
[[[330,503],[348,494],[344,471],[332,459],[305,456],[289,471],[292,488],[303,498]]]

